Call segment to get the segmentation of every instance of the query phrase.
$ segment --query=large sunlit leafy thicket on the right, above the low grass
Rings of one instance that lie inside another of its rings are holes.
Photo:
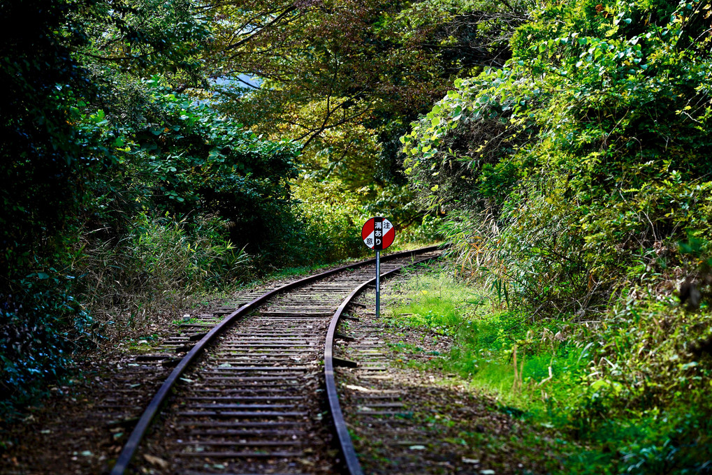
[[[407,171],[460,211],[445,231],[464,270],[583,312],[712,234],[709,16],[708,1],[547,4],[504,68],[414,124]]]

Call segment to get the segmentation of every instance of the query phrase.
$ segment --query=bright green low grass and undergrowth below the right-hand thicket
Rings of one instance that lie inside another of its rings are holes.
[[[442,269],[414,276],[386,318],[454,340],[427,365],[572,442],[562,473],[712,470],[712,314],[631,288],[598,318],[536,318]],[[473,290],[474,289],[474,290]]]

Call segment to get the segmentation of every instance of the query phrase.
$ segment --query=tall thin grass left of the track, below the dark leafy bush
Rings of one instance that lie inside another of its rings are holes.
[[[132,327],[152,312],[175,311],[191,297],[247,278],[250,256],[231,244],[225,228],[216,217],[187,221],[143,212],[119,240],[85,234],[83,257],[73,264],[85,306],[100,321]]]

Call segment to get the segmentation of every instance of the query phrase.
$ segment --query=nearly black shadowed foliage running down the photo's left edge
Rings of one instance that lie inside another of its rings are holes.
[[[66,272],[85,180],[108,162],[83,147],[71,103],[93,97],[72,49],[87,38],[72,1],[0,4],[1,413],[34,402],[82,348],[91,318]],[[88,152],[88,153],[87,153]]]

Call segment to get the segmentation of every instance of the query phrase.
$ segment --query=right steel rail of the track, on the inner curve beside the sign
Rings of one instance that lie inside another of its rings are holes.
[[[381,279],[389,277],[395,273],[402,271],[408,266],[414,266],[415,264],[439,259],[439,257],[439,255],[429,256],[425,259],[420,259],[419,261],[406,263],[398,268],[394,268],[392,271],[384,272],[377,277]],[[329,411],[331,412],[334,429],[336,431],[337,438],[339,439],[339,448],[341,449],[341,454],[344,458],[344,462],[349,475],[363,475],[363,470],[361,469],[361,464],[358,461],[358,456],[356,455],[354,445],[351,442],[351,435],[349,434],[348,428],[346,427],[344,414],[341,411],[341,404],[339,403],[339,395],[336,390],[336,381],[334,379],[334,335],[336,334],[336,327],[339,324],[339,319],[341,318],[341,315],[346,309],[346,307],[367,286],[370,286],[375,283],[376,279],[377,278],[374,277],[370,281],[362,283],[360,286],[355,288],[354,291],[352,291],[347,298],[345,298],[345,300],[341,303],[339,308],[334,313],[334,316],[331,318],[329,330],[326,334],[326,342],[324,343],[324,377],[326,382],[326,394],[329,402]]]

